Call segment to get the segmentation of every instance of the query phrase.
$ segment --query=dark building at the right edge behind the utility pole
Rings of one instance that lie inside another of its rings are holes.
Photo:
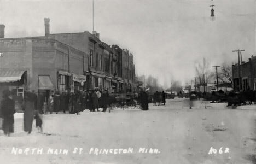
[[[241,62],[241,65],[232,65],[232,77],[234,90],[256,90],[256,56],[249,58],[248,62]]]

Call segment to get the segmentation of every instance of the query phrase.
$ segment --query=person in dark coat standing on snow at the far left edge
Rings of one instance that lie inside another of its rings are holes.
[[[15,102],[9,90],[3,91],[3,100],[1,101],[1,115],[3,118],[3,131],[5,135],[10,136],[14,132]]]

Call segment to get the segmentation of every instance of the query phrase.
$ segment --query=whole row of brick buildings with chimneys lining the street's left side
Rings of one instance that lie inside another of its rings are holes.
[[[134,85],[135,66],[127,50],[110,47],[96,31],[51,34],[50,19],[44,19],[44,24],[45,36],[27,38],[4,38],[5,26],[0,25],[2,90],[49,95],[50,90],[95,88],[126,92]]]

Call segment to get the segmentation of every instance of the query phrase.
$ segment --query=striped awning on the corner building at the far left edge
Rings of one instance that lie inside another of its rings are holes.
[[[0,71],[0,83],[19,81],[25,71]]]

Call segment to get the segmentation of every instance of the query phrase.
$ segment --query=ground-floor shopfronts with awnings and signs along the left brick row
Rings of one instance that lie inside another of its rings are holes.
[[[132,91],[132,85],[124,83],[123,80],[114,79],[104,74],[95,72],[85,72],[85,75],[74,74],[66,71],[57,71],[57,81],[50,75],[38,75],[36,81],[38,90],[30,90],[37,93],[44,92],[46,97],[51,91],[63,93],[88,91],[88,90],[108,90],[110,93],[123,93]],[[57,84],[56,87],[54,84]],[[27,71],[0,71],[0,96],[5,89],[10,90],[13,95],[24,97],[24,92],[28,90]],[[126,87],[126,88],[124,88]]]

